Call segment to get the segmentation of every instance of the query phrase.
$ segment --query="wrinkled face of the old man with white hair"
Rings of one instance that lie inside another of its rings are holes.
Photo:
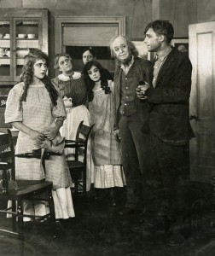
[[[125,41],[125,38],[116,38],[113,41],[112,49],[116,58],[121,62],[126,61],[130,55],[128,44]]]

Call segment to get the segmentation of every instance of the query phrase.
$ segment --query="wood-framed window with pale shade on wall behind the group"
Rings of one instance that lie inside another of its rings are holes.
[[[82,51],[92,47],[96,60],[110,73],[114,61],[109,50],[109,41],[114,35],[125,35],[125,17],[55,17],[55,53],[67,52],[73,58],[75,71],[82,71]]]

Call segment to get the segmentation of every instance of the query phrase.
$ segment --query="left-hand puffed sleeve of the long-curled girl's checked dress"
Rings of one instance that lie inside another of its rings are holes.
[[[9,91],[4,113],[5,123],[23,121],[22,108],[20,108],[20,96],[22,91],[20,84],[15,85],[15,87]]]

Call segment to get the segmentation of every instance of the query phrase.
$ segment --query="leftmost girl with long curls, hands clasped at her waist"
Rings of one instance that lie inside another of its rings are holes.
[[[9,91],[5,120],[18,129],[16,154],[32,152],[43,148],[44,142],[61,137],[59,129],[66,118],[66,111],[58,91],[46,76],[48,56],[40,49],[32,49],[24,59],[20,83]],[[46,161],[45,173],[40,159],[16,158],[16,179],[42,180],[53,182],[55,218],[74,217],[70,187],[72,180],[64,153],[50,156]],[[32,206],[24,204],[24,212],[43,215],[43,202]],[[25,219],[30,220],[30,219]]]

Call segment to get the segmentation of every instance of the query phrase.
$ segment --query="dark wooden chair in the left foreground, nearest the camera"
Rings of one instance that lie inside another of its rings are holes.
[[[11,230],[4,230],[0,227],[0,233],[7,233],[8,235],[18,236],[20,241],[20,255],[24,255],[24,224],[23,218],[30,217],[33,221],[41,221],[44,218],[50,218],[55,222],[55,208],[52,198],[53,184],[47,181],[35,180],[15,180],[15,147],[11,131],[8,130],[7,134],[0,135],[0,170],[2,178],[0,183],[0,200],[12,202],[12,207],[1,209],[1,212],[9,213],[12,215],[12,228]],[[47,154],[44,154],[45,157]],[[20,154],[18,157],[40,158],[41,154]],[[11,175],[9,175],[9,172]],[[9,177],[10,176],[10,177]],[[42,195],[47,194],[47,197],[42,199]],[[38,198],[40,197],[40,198]],[[24,200],[30,201],[48,201],[49,213],[44,216],[26,215],[23,213],[22,202]],[[1,214],[3,216],[3,214]],[[17,219],[17,221],[16,221]]]

